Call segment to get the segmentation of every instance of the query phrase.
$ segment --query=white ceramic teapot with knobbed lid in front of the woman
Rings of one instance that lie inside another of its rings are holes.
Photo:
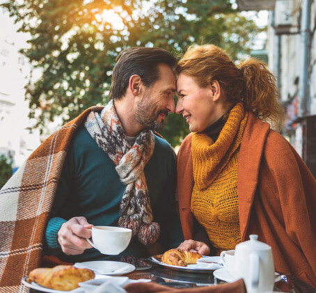
[[[243,278],[248,293],[271,293],[274,288],[274,258],[271,247],[250,235],[249,241],[237,244],[234,277]]]

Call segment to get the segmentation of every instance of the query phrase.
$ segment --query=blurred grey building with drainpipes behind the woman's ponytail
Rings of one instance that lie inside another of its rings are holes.
[[[316,177],[316,1],[237,0],[237,5],[269,10],[267,56],[287,111],[283,135]]]

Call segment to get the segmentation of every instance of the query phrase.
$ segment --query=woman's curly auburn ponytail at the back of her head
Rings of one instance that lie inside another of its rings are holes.
[[[248,58],[239,63],[239,70],[245,84],[242,97],[245,108],[281,131],[285,110],[278,99],[274,74],[268,70],[267,65],[255,58]]]

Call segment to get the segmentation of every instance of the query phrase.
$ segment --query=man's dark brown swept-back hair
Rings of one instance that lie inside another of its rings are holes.
[[[158,65],[164,63],[174,68],[177,60],[161,48],[131,47],[120,52],[113,68],[109,100],[120,100],[126,93],[129,78],[137,74],[144,86],[150,87],[159,79]]]

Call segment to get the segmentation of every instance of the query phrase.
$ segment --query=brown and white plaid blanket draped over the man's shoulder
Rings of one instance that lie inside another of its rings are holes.
[[[40,267],[43,239],[68,146],[93,106],[49,136],[0,191],[0,292],[26,292],[21,279]]]

